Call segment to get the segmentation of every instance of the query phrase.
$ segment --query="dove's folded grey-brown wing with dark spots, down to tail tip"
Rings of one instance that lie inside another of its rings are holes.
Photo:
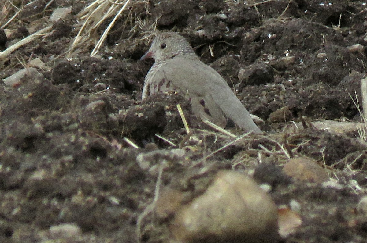
[[[228,117],[245,131],[261,133],[222,76],[199,59],[172,58],[160,67],[156,78],[172,82],[176,89],[187,94],[193,111],[201,117],[221,127]]]

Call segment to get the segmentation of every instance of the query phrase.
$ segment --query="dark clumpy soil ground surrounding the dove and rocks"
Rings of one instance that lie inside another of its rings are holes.
[[[29,2],[2,1],[1,25]],[[155,194],[152,168],[163,158],[170,161],[163,186],[193,164],[232,168],[270,184],[276,205],[298,202],[303,223],[281,242],[367,242],[367,217],[356,210],[367,194],[367,145],[355,130],[333,133],[310,123],[360,120],[354,102],[366,76],[364,1],[133,0],[94,57],[112,17],[89,42],[71,49],[83,23],[78,13],[90,3],[36,0],[4,27],[12,36],[3,50],[46,26],[52,31],[0,59],[0,79],[37,58],[49,67],[12,85],[0,83],[0,242],[137,242],[138,223],[142,242],[167,242],[154,216],[138,222]],[[51,23],[57,7],[71,12]],[[248,111],[264,120],[265,135],[220,149],[233,138],[192,115],[181,96],[141,101],[153,61],[139,58],[155,26],[185,36]],[[178,147],[185,156],[170,152]],[[146,169],[137,156],[149,152]],[[291,180],[280,170],[288,157],[302,156],[316,160],[338,186]],[[48,229],[60,223],[77,224],[80,237],[49,239]]]

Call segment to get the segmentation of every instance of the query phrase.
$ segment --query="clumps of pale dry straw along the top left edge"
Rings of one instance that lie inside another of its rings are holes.
[[[10,0],[4,0],[4,4],[1,6],[0,11],[0,25],[4,29],[15,30],[19,26],[23,26],[24,22],[19,19],[19,14],[30,4],[35,1],[30,1],[24,4],[26,1],[16,3]],[[50,22],[50,16],[52,9],[51,4],[54,0],[46,2],[46,6],[42,13],[37,13],[39,18],[35,16],[29,16],[33,18],[30,25],[26,28],[33,34],[19,40],[17,43],[12,44],[6,50],[0,52],[0,59],[9,58],[10,54],[23,45],[26,45],[38,38],[47,38],[48,34],[52,31],[52,22]],[[152,31],[156,28],[156,22],[147,23],[145,16],[149,15],[149,1],[148,0],[95,0],[87,5],[83,10],[77,14],[79,18],[79,24],[73,27],[79,30],[76,34],[73,44],[70,48],[56,56],[53,60],[57,60],[59,57],[70,57],[76,52],[89,51],[90,47],[93,47],[91,56],[98,53],[107,35],[112,31],[112,27],[119,20],[119,31],[128,35],[128,39],[134,38],[140,35],[141,38],[137,39],[148,42]],[[36,31],[37,30],[37,31]],[[141,43],[140,43],[141,44]],[[14,60],[15,61],[15,60]],[[8,66],[11,67],[11,66]],[[8,68],[7,67],[7,68]]]

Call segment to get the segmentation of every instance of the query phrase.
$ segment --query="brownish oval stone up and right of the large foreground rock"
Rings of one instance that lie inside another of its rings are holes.
[[[283,171],[299,181],[323,183],[330,179],[326,171],[310,158],[293,158],[284,165]]]

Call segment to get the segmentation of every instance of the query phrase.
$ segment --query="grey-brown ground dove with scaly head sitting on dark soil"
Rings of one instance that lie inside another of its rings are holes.
[[[142,99],[176,90],[190,100],[192,111],[220,127],[229,121],[247,132],[261,133],[226,81],[199,60],[188,41],[171,32],[160,33],[141,60],[155,59],[145,76]]]

